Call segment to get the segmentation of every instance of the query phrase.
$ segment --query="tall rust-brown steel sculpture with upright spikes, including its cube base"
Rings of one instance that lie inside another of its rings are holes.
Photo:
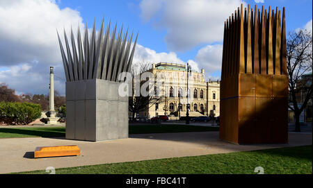
[[[241,4],[225,22],[220,84],[220,139],[287,143],[285,9],[255,12]]]

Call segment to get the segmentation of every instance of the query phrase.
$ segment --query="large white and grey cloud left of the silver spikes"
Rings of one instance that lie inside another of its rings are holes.
[[[58,1],[59,2],[59,1]],[[0,83],[19,93],[47,94],[49,67],[55,67],[56,89],[65,94],[64,71],[56,28],[70,31],[82,18],[77,10],[60,9],[56,1],[0,1]]]

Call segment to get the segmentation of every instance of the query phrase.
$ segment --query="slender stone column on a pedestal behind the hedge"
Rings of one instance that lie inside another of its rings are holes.
[[[49,87],[49,117],[47,124],[57,124],[58,117],[54,111],[54,67],[50,67],[50,87]]]

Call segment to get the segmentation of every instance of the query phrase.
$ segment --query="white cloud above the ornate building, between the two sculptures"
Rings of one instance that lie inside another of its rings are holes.
[[[170,50],[186,51],[203,43],[223,41],[224,21],[241,0],[142,0],[141,17],[167,31]]]

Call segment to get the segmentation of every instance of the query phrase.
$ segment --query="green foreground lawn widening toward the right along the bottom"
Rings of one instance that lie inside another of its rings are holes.
[[[140,162],[99,164],[56,169],[56,173],[255,173],[262,166],[264,173],[312,174],[312,145],[291,148],[275,148],[261,151],[245,151],[195,157],[177,157]],[[46,173],[30,171],[24,173]]]

